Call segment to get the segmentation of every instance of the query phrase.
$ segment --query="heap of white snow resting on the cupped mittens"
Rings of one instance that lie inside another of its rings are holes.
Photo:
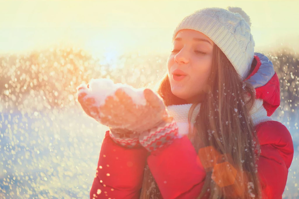
[[[79,88],[82,88],[78,91]],[[89,82],[89,88],[85,83],[80,84],[77,87],[77,95],[81,92],[86,93],[86,97],[93,97],[97,106],[105,104],[105,100],[109,96],[115,97],[115,91],[121,88],[127,95],[129,95],[135,104],[146,105],[144,97],[144,88],[133,88],[127,84],[117,83],[115,84],[111,79],[91,79]]]

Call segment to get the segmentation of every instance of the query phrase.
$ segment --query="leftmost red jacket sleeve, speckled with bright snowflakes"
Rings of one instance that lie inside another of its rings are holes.
[[[139,198],[146,158],[147,151],[143,147],[122,147],[106,131],[90,199]]]

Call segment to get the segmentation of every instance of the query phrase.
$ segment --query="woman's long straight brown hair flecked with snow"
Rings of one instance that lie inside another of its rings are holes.
[[[167,74],[159,83],[157,93],[166,106],[187,103],[171,92]],[[212,72],[201,96],[201,107],[193,125],[194,131],[189,129],[189,137],[193,138],[193,146],[199,152],[199,158],[206,170],[204,186],[198,198],[203,198],[205,194],[210,195],[209,199],[261,197],[256,165],[256,152],[260,150],[249,114],[253,103],[254,89],[242,82],[225,54],[214,45]],[[190,108],[189,123],[196,105],[193,104]],[[209,157],[207,152],[211,148],[214,153]],[[214,164],[211,165],[213,160]],[[228,176],[228,171],[233,171],[230,174],[232,178]],[[144,171],[141,198],[161,198],[148,166]]]

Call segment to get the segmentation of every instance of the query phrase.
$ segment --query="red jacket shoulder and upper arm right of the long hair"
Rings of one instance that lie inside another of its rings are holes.
[[[257,165],[263,198],[281,199],[294,155],[291,134],[277,121],[261,123],[256,131],[261,149]]]

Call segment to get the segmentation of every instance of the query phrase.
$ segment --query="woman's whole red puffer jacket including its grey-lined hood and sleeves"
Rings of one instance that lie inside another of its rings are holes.
[[[263,100],[270,116],[280,104],[279,80],[266,56],[255,53],[254,58],[257,64],[247,81],[254,86],[256,98]],[[261,148],[257,164],[263,198],[280,199],[293,159],[292,137],[277,121],[266,121],[255,128]],[[196,198],[201,192],[205,169],[186,136],[147,157],[143,147],[119,146],[106,131],[90,198],[138,199],[146,160],[164,199]]]

